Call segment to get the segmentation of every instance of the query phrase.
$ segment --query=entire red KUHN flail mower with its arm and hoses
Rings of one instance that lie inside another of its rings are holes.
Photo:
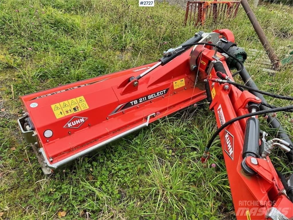
[[[260,91],[243,66],[246,57],[231,31],[200,31],[164,51],[158,62],[20,97],[24,114],[18,123],[50,174],[207,99],[218,130],[201,161],[219,135],[237,219],[292,219],[293,176],[287,180],[269,158],[273,148],[281,148],[292,161],[292,141],[271,116],[270,125],[280,132],[267,140],[257,116],[293,110],[268,104],[263,94],[293,98]],[[234,81],[236,74],[246,85]]]

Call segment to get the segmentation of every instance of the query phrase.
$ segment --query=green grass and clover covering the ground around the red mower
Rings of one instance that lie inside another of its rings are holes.
[[[292,45],[292,8],[271,4],[255,13],[273,48]],[[262,49],[242,8],[236,19],[204,27],[184,27],[183,16],[178,6],[142,8],[134,0],[1,1],[0,219],[235,218],[219,140],[208,163],[199,162],[216,128],[205,104],[50,176],[42,175],[16,122],[19,95],[156,61],[198,30],[228,28],[247,51]],[[293,94],[292,66],[269,75],[258,59],[246,65],[260,89]],[[277,117],[292,137],[292,114]],[[266,123],[262,129],[276,132]],[[283,156],[274,151],[271,158],[286,173],[292,167]]]

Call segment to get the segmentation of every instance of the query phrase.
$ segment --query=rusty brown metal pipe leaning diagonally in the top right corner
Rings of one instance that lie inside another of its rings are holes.
[[[251,10],[251,7],[249,6],[247,0],[241,0],[241,5],[243,9],[245,10],[256,34],[258,35],[258,38],[260,39],[260,42],[263,45],[263,48],[265,48],[266,53],[268,54],[268,57],[273,65],[274,69],[278,69],[280,66],[280,60],[275,54],[274,50],[272,49],[270,43],[268,42],[267,37],[265,36],[265,33],[263,33],[263,29],[260,27],[260,24],[258,23],[253,11]]]

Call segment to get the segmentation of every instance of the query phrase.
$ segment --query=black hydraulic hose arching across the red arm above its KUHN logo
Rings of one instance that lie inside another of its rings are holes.
[[[235,121],[239,121],[241,119],[245,119],[245,118],[252,117],[252,116],[255,116],[255,115],[268,114],[268,113],[273,113],[273,112],[278,112],[278,111],[286,111],[286,110],[290,110],[290,109],[293,109],[293,105],[289,105],[289,106],[285,106],[285,107],[280,107],[280,108],[275,108],[275,109],[267,109],[267,110],[263,110],[263,111],[256,111],[256,112],[253,112],[253,113],[249,113],[249,114],[245,114],[245,115],[238,116],[238,117],[236,117],[234,119],[231,119],[230,121],[227,121],[221,127],[219,127],[217,129],[217,131],[209,139],[209,142],[207,143],[207,147],[205,148],[205,153],[208,153],[209,152],[209,149],[210,149],[212,143],[214,142],[214,139],[217,137],[217,135],[224,128],[226,128],[228,125],[234,123]]]

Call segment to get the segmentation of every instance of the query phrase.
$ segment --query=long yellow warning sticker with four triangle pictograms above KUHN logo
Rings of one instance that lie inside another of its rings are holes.
[[[89,109],[86,99],[83,96],[53,104],[51,108],[56,119]]]

